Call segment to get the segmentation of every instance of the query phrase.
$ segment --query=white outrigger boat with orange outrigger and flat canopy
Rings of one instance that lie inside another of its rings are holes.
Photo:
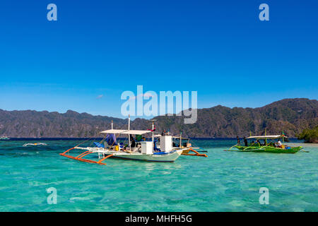
[[[117,157],[126,160],[143,160],[143,161],[153,161],[153,162],[174,162],[177,158],[182,154],[182,152],[187,148],[179,148],[172,146],[172,136],[162,136],[160,138],[160,148],[155,146],[154,140],[154,124],[152,130],[131,130],[130,128],[130,118],[128,129],[108,129],[105,131],[101,131],[100,133],[106,134],[106,136],[102,139],[104,141],[104,145],[102,142],[97,143],[95,147],[80,147],[76,145],[74,148],[66,150],[64,153],[60,155],[64,157],[69,157],[73,160],[79,160],[82,162],[90,162],[90,163],[98,163],[100,165],[106,165],[102,161],[107,159],[108,157]],[[146,133],[152,133],[151,141],[146,141],[144,138],[141,141],[131,141],[131,136],[143,135]],[[119,135],[127,135],[129,144],[124,146],[117,142],[117,136]],[[70,150],[78,149],[85,150],[85,152],[80,155],[72,156],[66,153],[69,153]],[[92,153],[98,154],[98,158],[100,160],[88,160],[83,157]]]

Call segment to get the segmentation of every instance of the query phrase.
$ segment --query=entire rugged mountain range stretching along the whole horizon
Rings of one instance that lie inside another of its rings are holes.
[[[253,134],[280,134],[282,131],[295,137],[302,129],[318,125],[318,101],[284,99],[258,108],[216,106],[198,109],[195,124],[183,124],[183,117],[155,117],[157,131],[169,129],[172,133],[182,131],[189,137],[235,137]],[[114,121],[116,129],[126,129],[127,120],[113,117],[93,116],[73,112],[4,111],[0,109],[0,136],[10,137],[90,137],[110,129]],[[151,129],[151,121],[135,119],[131,129]]]

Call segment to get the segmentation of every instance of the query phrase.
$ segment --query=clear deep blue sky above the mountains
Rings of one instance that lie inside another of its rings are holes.
[[[50,3],[57,21],[47,20]],[[269,21],[259,20],[262,3]],[[4,0],[0,109],[122,117],[120,95],[137,85],[198,91],[199,108],[317,99],[317,9],[316,0]]]

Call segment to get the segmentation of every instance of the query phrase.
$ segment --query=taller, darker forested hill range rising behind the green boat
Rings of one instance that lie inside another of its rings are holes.
[[[199,109],[195,124],[182,124],[180,117],[156,117],[158,124],[170,131],[189,137],[236,137],[281,134],[290,137],[302,129],[318,124],[318,101],[309,99],[284,99],[258,108],[223,107]]]

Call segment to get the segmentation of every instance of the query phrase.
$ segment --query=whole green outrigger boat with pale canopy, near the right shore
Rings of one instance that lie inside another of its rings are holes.
[[[273,142],[276,139],[282,139],[283,143],[281,145],[277,145]],[[273,135],[273,136],[249,136],[247,139],[255,139],[256,141],[263,140],[264,143],[260,142],[252,142],[246,145],[236,144],[233,145],[227,151],[240,151],[240,152],[253,152],[253,153],[289,153],[294,154],[300,150],[303,150],[302,146],[298,147],[289,147],[285,145],[284,138],[287,138],[285,135]],[[271,140],[271,142],[267,143],[267,139]]]

